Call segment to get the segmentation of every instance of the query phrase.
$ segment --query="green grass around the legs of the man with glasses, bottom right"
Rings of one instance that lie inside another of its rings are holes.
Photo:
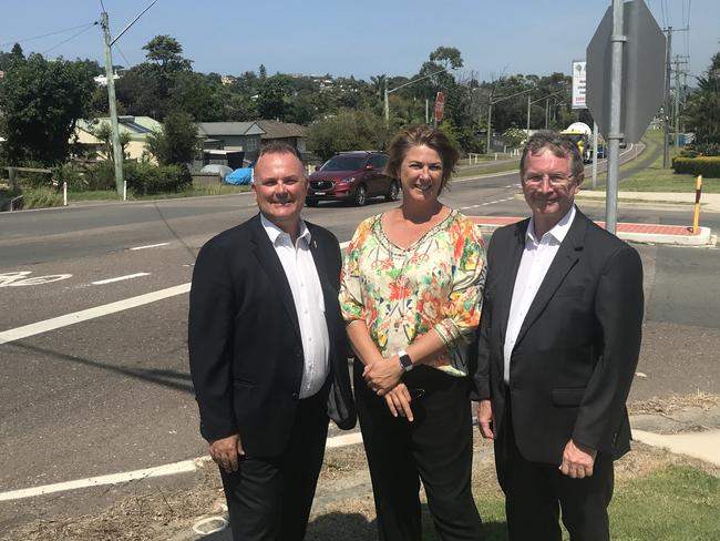
[[[483,491],[477,509],[487,541],[504,541],[505,507],[501,496]],[[426,508],[424,537],[435,532]],[[619,481],[609,508],[614,541],[707,541],[720,539],[720,479],[688,466],[667,465],[651,473]],[[569,535],[563,530],[563,539]]]

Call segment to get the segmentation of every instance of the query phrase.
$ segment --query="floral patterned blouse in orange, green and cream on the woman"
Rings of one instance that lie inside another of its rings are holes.
[[[388,238],[378,214],[358,226],[348,245],[340,308],[347,321],[366,323],[384,357],[435,329],[446,353],[426,364],[466,376],[485,272],[480,231],[460,212],[451,211],[409,248]]]

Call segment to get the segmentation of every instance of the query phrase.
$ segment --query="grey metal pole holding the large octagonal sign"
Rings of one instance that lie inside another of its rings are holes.
[[[627,37],[623,33],[624,0],[613,0],[613,35],[610,67],[610,125],[607,134],[607,192],[605,196],[605,228],[615,234],[617,229],[617,178],[620,163],[620,99],[623,96],[623,43]]]

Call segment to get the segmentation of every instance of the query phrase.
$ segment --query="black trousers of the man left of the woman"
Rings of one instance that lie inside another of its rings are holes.
[[[300,400],[286,451],[220,468],[235,541],[301,541],[328,435],[327,392]],[[240,435],[241,437],[241,435]]]

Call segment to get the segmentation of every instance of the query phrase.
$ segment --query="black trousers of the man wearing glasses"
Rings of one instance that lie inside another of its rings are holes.
[[[559,518],[573,541],[609,541],[607,507],[613,498],[613,459],[598,453],[593,476],[572,479],[559,465],[531,462],[515,442],[510,397],[495,440],[497,480],[505,492],[511,541],[560,541]]]

